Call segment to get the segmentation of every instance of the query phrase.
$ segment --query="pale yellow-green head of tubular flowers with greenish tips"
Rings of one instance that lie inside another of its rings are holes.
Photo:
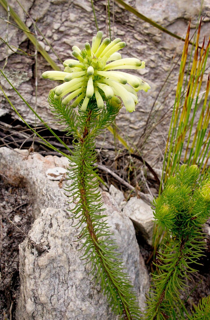
[[[53,89],[54,99],[66,96],[62,103],[76,107],[81,101],[81,111],[85,111],[89,100],[95,95],[99,109],[104,108],[104,100],[118,96],[123,101],[126,110],[135,111],[138,102],[136,92],[150,89],[149,84],[140,77],[130,75],[116,69],[143,69],[145,62],[136,58],[122,59],[118,50],[125,47],[125,42],[120,38],[111,41],[105,38],[102,42],[103,33],[97,32],[93,37],[92,46],[86,42],[85,48],[80,50],[73,46],[72,54],[77,59],[65,60],[62,71],[46,71],[43,78],[50,80],[63,80],[64,83]],[[111,62],[110,62],[111,61]],[[107,63],[108,62],[108,63]]]

